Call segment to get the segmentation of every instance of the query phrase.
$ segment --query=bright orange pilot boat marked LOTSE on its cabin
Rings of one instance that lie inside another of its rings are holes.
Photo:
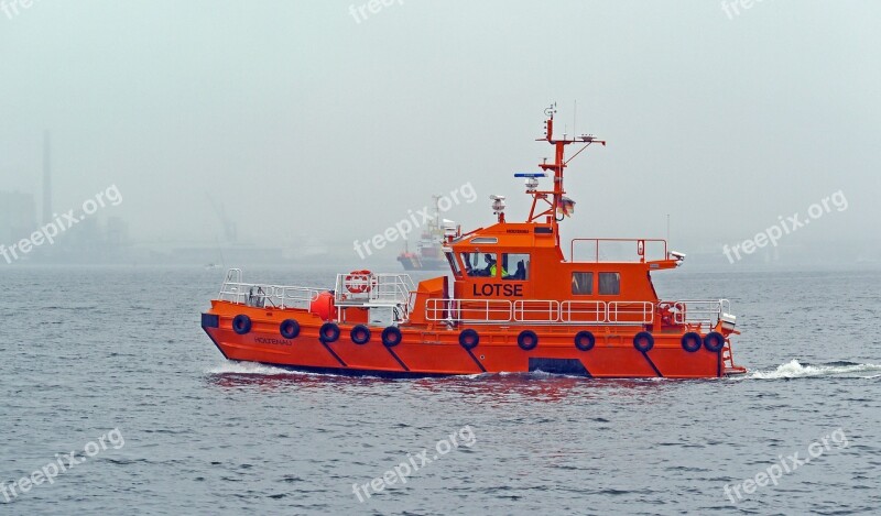
[[[233,268],[202,315],[205,332],[228,360],[356,375],[744,373],[733,362],[730,338],[738,332],[728,300],[657,297],[652,274],[685,259],[666,241],[574,239],[564,255],[559,223],[574,205],[564,171],[606,142],[555,139],[554,109],[545,114],[539,141],[554,147],[554,160],[515,174],[532,197],[529,217],[507,221],[504,197],[491,196],[492,226],[463,233],[445,221],[449,276],[414,285],[407,274],[355,271],[319,289],[243,283]],[[580,149],[566,160],[568,145]],[[548,176],[551,187],[540,188]],[[630,255],[611,260],[610,249]]]

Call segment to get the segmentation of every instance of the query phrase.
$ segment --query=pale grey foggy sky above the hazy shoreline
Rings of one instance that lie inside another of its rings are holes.
[[[48,131],[53,211],[115,186],[94,217],[141,256],[230,243],[222,209],[236,243],[358,268],[355,240],[464,185],[464,229],[491,194],[523,219],[513,174],[552,156],[553,101],[557,132],[608,141],[567,168],[567,238],[664,238],[668,216],[673,248],[728,266],[722,245],[827,199],[773,260],[881,248],[878,2],[23,3],[0,11],[0,190],[44,222]]]

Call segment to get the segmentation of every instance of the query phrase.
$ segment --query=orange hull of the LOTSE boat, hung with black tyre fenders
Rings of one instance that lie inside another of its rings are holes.
[[[252,321],[246,334],[237,333],[232,319],[247,315]],[[300,334],[285,339],[279,332],[282,320],[295,319]],[[260,362],[276,366],[378,376],[435,376],[481,373],[526,373],[544,371],[591,377],[718,377],[743,372],[726,369],[722,351],[704,348],[688,352],[681,345],[682,333],[655,333],[654,347],[646,352],[632,344],[640,327],[617,327],[606,331],[589,327],[536,328],[539,344],[529,351],[516,343],[518,331],[479,325],[474,349],[459,344],[461,329],[428,329],[402,326],[402,340],[387,347],[371,329],[371,339],[357,344],[350,337],[356,325],[339,325],[339,338],[334,342],[319,339],[320,318],[297,309],[261,309],[227,301],[214,301],[211,310],[203,314],[203,328],[225,358],[235,361]],[[574,334],[590,329],[596,344],[581,351],[574,344]]]

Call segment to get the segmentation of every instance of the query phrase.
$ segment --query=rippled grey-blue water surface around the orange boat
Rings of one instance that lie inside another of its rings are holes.
[[[320,286],[331,275],[255,270],[246,281]],[[105,439],[106,449],[52,484],[9,502],[0,492],[0,514],[877,514],[881,506],[878,272],[659,274],[662,297],[728,297],[739,316],[735,359],[750,373],[685,382],[389,381],[228,363],[199,328],[221,276],[0,268],[0,482],[57,463],[56,454],[85,457],[115,428],[124,438]],[[785,457],[809,457],[823,438],[820,454],[777,485],[742,491],[741,482]],[[410,459],[420,464],[423,450],[429,462],[406,483],[359,502],[352,484]],[[741,486],[742,499],[726,485]]]

